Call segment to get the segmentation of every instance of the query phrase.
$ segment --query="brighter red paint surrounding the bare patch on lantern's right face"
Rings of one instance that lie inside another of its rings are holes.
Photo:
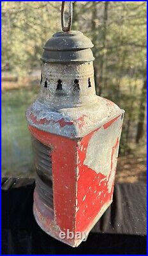
[[[104,129],[110,127],[110,125],[112,125],[118,118],[119,116],[108,122],[107,125],[103,125]],[[94,170],[84,164],[89,141],[91,140],[94,132],[98,130],[99,129],[96,129],[82,138],[78,147],[78,211],[76,213],[76,232],[87,230],[87,227],[93,223],[94,218],[97,216],[98,212],[101,211],[101,208],[112,200],[114,184],[110,193],[108,193],[108,180],[110,179],[112,172],[114,152],[119,146],[119,138],[117,138],[114,147],[110,148],[110,150],[112,150],[112,155],[110,159],[110,174],[108,177],[103,175],[101,172],[97,174]],[[83,150],[81,150],[82,147]]]

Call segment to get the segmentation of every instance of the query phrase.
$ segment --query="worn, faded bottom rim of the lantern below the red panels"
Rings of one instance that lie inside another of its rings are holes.
[[[34,204],[33,204],[33,213],[34,218],[40,228],[46,232],[48,235],[54,237],[55,239],[61,241],[62,243],[68,244],[72,247],[77,247],[82,241],[86,241],[87,236],[89,235],[89,232],[94,227],[94,225],[97,223],[98,220],[100,220],[103,213],[107,210],[107,208],[112,204],[112,200],[110,200],[107,204],[103,205],[101,208],[101,211],[98,213],[96,218],[94,218],[93,222],[89,227],[87,227],[86,230],[84,230],[83,234],[85,234],[84,237],[81,237],[79,239],[71,239],[71,238],[64,238],[61,239],[59,226],[56,224],[56,221],[54,220],[54,211],[52,211],[47,205],[45,205],[40,200],[40,196],[36,192],[36,189],[34,191]]]

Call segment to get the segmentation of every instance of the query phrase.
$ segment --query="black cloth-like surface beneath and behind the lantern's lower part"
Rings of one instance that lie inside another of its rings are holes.
[[[38,227],[33,216],[34,184],[34,179],[2,180],[3,254],[146,254],[145,184],[115,184],[112,205],[78,248]]]

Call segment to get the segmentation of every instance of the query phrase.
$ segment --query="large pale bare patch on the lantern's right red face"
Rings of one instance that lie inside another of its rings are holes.
[[[101,127],[94,132],[87,147],[84,164],[108,177],[110,173],[112,147],[121,133],[121,118],[118,118],[107,129]]]

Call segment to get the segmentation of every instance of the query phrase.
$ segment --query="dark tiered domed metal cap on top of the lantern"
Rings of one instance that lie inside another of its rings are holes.
[[[91,40],[80,31],[57,32],[43,47],[43,62],[87,62],[93,61]]]

